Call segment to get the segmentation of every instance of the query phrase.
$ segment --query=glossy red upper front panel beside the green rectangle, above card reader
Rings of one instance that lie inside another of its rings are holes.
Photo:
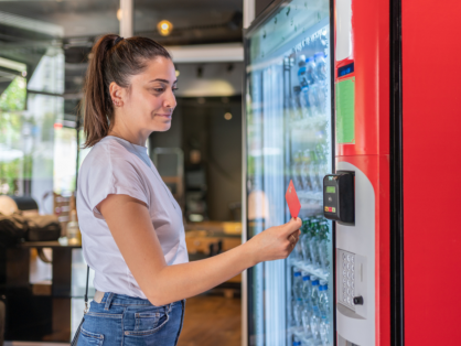
[[[352,0],[352,13],[355,144],[336,144],[336,153],[388,154],[389,2]],[[335,66],[337,68],[349,63],[351,61],[344,60],[336,62]]]

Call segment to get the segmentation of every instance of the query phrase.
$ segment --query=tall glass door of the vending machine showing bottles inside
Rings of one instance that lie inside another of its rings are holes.
[[[302,236],[286,261],[249,271],[249,345],[333,345],[332,225],[322,180],[332,171],[329,1],[287,1],[247,42],[248,238],[290,218]]]

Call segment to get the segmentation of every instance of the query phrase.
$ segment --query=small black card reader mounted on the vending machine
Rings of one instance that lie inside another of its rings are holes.
[[[354,172],[337,171],[323,177],[323,215],[343,225],[355,224]]]

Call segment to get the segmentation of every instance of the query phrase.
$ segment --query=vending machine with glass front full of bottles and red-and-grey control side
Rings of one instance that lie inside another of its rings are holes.
[[[247,271],[244,344],[388,345],[389,2],[275,1],[245,34],[246,238],[301,203],[287,260]]]

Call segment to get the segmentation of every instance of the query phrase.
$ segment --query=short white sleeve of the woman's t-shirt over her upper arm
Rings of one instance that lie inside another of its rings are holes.
[[[118,158],[95,162],[88,170],[88,202],[95,217],[104,219],[96,206],[108,195],[128,195],[149,207],[142,173],[128,160]]]

